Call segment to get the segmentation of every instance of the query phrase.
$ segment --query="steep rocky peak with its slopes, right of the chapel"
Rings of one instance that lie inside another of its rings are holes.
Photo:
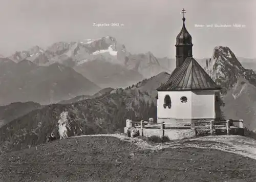
[[[216,47],[205,70],[220,86],[223,114],[227,119],[243,119],[245,127],[256,128],[256,74],[245,69],[228,47]]]

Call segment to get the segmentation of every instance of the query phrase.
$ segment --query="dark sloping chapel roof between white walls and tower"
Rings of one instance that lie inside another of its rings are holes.
[[[200,64],[189,57],[177,67],[158,91],[164,90],[219,90],[221,89],[204,71]]]

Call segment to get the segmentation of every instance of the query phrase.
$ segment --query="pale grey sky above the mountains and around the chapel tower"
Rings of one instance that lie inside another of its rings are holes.
[[[210,57],[214,47],[223,45],[237,57],[255,58],[255,5],[255,0],[2,0],[0,54],[111,35],[132,53],[151,51],[157,57],[174,58],[185,8],[194,57]],[[123,26],[94,27],[94,22]],[[246,27],[196,28],[195,24]]]

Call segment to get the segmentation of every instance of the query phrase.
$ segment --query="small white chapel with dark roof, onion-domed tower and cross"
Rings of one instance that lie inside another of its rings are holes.
[[[192,37],[183,26],[176,38],[176,69],[157,88],[157,121],[165,123],[216,119],[215,106],[221,87],[192,55]]]

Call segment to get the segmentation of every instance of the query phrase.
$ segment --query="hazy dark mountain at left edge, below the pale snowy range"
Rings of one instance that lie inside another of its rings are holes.
[[[15,63],[0,58],[0,105],[30,101],[49,104],[98,90],[98,85],[60,63],[38,66],[27,59]]]

